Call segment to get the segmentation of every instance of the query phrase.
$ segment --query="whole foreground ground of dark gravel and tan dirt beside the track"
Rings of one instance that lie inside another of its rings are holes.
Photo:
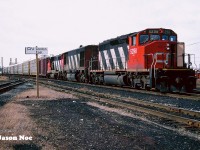
[[[0,150],[196,149],[198,140],[141,119],[126,110],[108,108],[71,94],[40,87],[0,107]]]

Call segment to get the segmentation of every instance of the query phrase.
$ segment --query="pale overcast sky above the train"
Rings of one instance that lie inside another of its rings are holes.
[[[0,0],[0,57],[35,58],[25,47],[60,54],[146,28],[169,28],[200,64],[199,0]],[[196,43],[196,44],[194,44]]]

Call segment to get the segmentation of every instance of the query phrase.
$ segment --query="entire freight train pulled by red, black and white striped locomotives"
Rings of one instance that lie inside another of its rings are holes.
[[[153,28],[40,58],[39,73],[76,82],[191,92],[196,77],[190,62],[185,63],[185,55],[184,43],[177,41],[173,30]],[[9,66],[4,73],[34,75],[33,61]]]

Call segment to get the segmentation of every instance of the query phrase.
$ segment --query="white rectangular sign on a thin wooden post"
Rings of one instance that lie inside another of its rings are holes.
[[[39,61],[38,54],[47,55],[47,47],[25,47],[25,54],[35,54],[36,55],[36,87],[37,87],[37,98],[39,98]]]

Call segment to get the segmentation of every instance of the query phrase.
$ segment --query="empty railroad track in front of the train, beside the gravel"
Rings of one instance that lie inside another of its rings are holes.
[[[159,118],[165,118],[173,121],[178,125],[182,125],[185,128],[194,127],[200,129],[200,112],[192,111],[172,106],[166,106],[162,104],[137,100],[135,98],[126,98],[121,96],[113,96],[112,94],[96,93],[94,91],[88,91],[84,89],[73,88],[70,86],[59,85],[58,83],[40,81],[41,84],[54,88],[62,92],[72,93],[90,101],[102,103],[104,105],[110,105],[111,107],[123,108],[131,111],[143,112],[157,116]]]

